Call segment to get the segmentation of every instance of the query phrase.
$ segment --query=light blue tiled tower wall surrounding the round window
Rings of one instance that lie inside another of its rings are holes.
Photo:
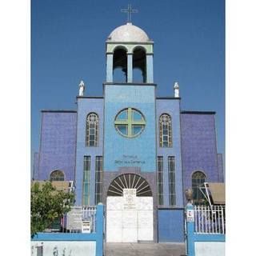
[[[138,166],[142,171],[156,170],[154,86],[105,86],[104,170],[118,171],[122,166]],[[125,138],[114,128],[114,118],[122,109],[132,107],[142,112],[146,127],[136,138]],[[140,163],[126,163],[124,155]],[[122,161],[117,163],[116,160]]]

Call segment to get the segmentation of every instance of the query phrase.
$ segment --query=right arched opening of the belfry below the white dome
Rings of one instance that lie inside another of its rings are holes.
[[[146,50],[140,46],[133,53],[133,80],[146,82]]]

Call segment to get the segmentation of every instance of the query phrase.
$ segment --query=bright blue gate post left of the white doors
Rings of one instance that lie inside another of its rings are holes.
[[[97,205],[96,210],[96,256],[103,255],[103,225],[104,225],[104,206],[101,202]]]

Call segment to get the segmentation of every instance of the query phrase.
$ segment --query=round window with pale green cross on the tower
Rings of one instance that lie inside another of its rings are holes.
[[[142,113],[131,107],[121,110],[114,119],[114,127],[119,134],[128,138],[134,138],[142,133],[146,126]]]

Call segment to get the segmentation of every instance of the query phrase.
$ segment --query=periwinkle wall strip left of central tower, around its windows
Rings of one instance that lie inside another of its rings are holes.
[[[103,146],[103,98],[78,98],[77,150],[75,167],[76,205],[82,205],[83,159],[90,156],[90,205],[95,203],[95,158],[102,156]],[[90,112],[98,114],[98,146],[86,146],[86,117]]]

